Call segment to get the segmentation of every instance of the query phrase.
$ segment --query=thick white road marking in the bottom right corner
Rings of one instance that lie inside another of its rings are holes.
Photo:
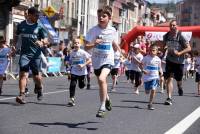
[[[181,120],[165,134],[183,134],[195,121],[200,118],[200,107]]]

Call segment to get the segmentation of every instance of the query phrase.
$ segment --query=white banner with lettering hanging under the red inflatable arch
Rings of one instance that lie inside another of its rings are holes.
[[[145,38],[149,39],[151,41],[162,41],[163,40],[163,36],[166,34],[167,32],[145,32]],[[181,32],[181,34],[183,35],[183,37],[185,37],[185,39],[187,41],[190,41],[191,37],[192,37],[192,32]]]

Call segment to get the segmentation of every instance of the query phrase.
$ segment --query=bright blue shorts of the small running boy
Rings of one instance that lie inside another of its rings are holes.
[[[156,90],[158,88],[158,85],[159,85],[158,79],[154,79],[154,80],[151,80],[151,81],[144,82],[145,90]]]

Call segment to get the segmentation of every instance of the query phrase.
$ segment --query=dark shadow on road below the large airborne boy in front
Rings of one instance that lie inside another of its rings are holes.
[[[37,123],[31,122],[31,125],[38,125],[42,127],[49,127],[49,126],[67,126],[69,128],[80,128],[80,129],[87,129],[87,130],[97,130],[98,128],[89,128],[89,127],[80,127],[81,125],[91,124],[91,123],[99,123],[99,122],[80,122],[80,123],[64,123],[64,122],[55,122],[55,123]]]

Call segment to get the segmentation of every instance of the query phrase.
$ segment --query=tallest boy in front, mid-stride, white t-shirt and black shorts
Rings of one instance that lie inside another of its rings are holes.
[[[114,27],[109,25],[112,8],[104,6],[97,10],[98,25],[89,30],[86,35],[86,49],[93,48],[92,65],[99,84],[100,107],[96,117],[103,118],[106,109],[110,111],[111,101],[107,92],[107,76],[114,65],[114,51],[119,48],[118,34]],[[116,47],[113,47],[116,46]]]

